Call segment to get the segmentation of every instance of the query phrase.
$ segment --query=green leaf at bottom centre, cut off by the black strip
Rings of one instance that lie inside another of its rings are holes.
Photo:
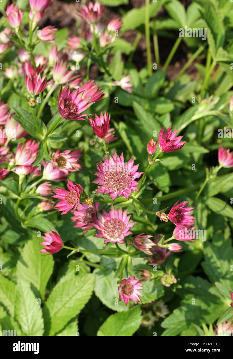
[[[140,306],[128,312],[112,314],[99,328],[98,336],[131,336],[142,321]]]

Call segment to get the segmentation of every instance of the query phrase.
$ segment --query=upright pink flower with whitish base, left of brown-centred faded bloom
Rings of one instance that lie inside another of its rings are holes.
[[[20,166],[29,166],[32,164],[38,156],[38,147],[39,143],[35,143],[35,140],[26,140],[22,146],[18,143],[15,154],[15,164]]]

